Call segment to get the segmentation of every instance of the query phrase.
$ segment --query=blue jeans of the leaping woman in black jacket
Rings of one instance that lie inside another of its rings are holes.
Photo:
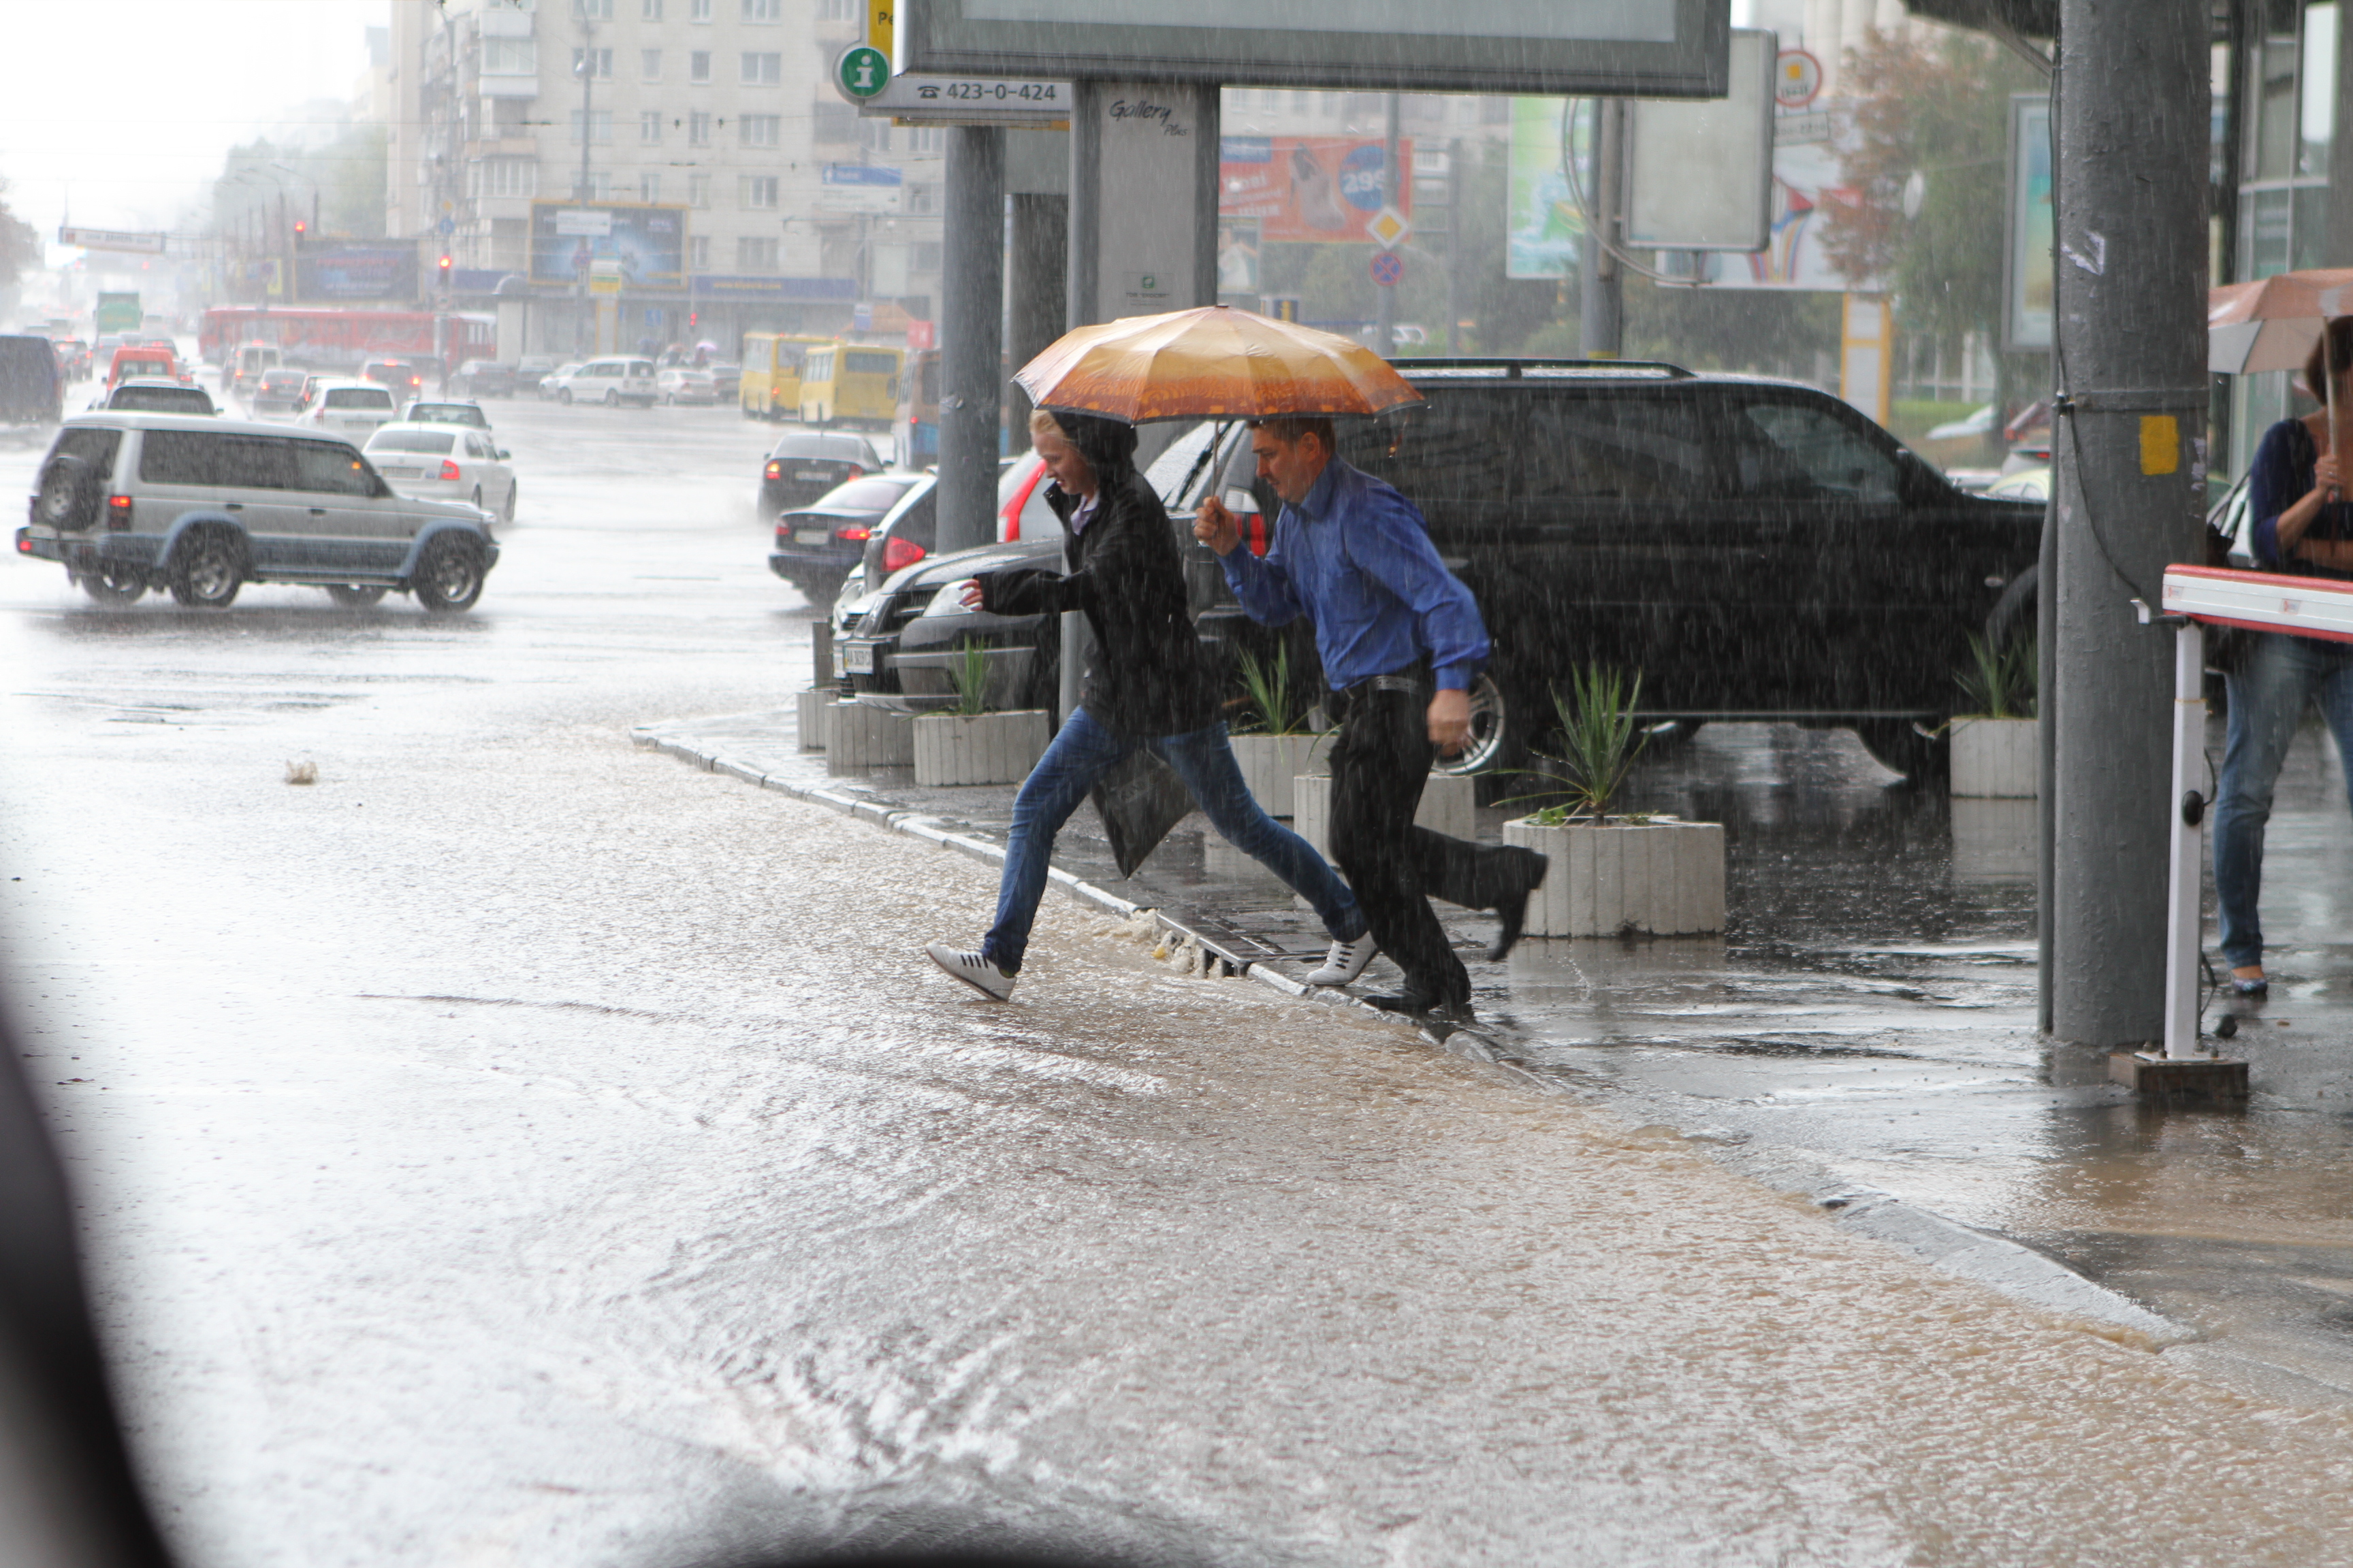
[[[1176,769],[1209,825],[1306,898],[1322,917],[1332,940],[1353,943],[1365,936],[1365,912],[1355,907],[1355,893],[1339,879],[1339,872],[1325,865],[1313,844],[1266,816],[1266,809],[1252,799],[1249,785],[1242,783],[1242,769],[1233,762],[1233,748],[1226,745],[1224,722],[1184,736],[1132,741],[1096,724],[1085,708],[1075,708],[1021,783],[1021,795],[1014,797],[1014,830],[1005,842],[1005,882],[998,886],[998,924],[988,926],[981,957],[1005,971],[1021,969],[1028,931],[1038,919],[1038,900],[1045,898],[1054,835],[1087,799],[1087,790],[1127,762],[1136,745],[1148,745],[1153,755]]]

